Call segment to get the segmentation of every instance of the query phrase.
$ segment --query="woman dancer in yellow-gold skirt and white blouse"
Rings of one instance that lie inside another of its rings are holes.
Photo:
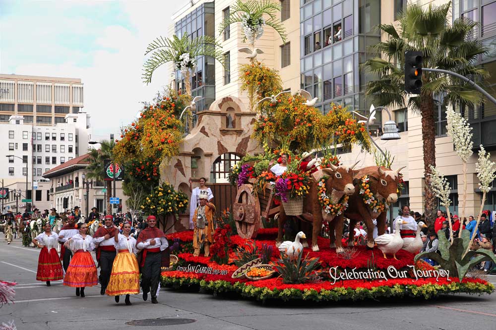
[[[119,234],[119,228],[116,228],[115,246],[119,251],[110,274],[107,294],[115,296],[116,302],[119,302],[119,296],[125,294],[125,304],[131,305],[129,294],[139,293],[139,268],[138,261],[134,255],[138,252],[136,248],[136,239],[129,236],[131,224],[125,222],[123,225],[123,234]]]

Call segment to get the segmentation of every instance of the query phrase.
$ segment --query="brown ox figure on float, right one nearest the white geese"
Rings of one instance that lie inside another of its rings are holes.
[[[350,219],[350,234],[349,234],[349,244],[353,246],[354,244],[354,233],[353,229],[358,221],[364,221],[367,226],[367,246],[373,248],[373,219],[377,219],[377,230],[378,234],[384,234],[384,229],[386,225],[386,215],[387,210],[381,213],[373,213],[372,209],[366,204],[360,194],[362,188],[362,178],[366,175],[369,176],[369,185],[371,192],[375,198],[378,198],[382,202],[387,202],[389,204],[395,203],[398,200],[398,183],[401,178],[399,173],[403,169],[400,168],[396,171],[387,169],[385,167],[369,166],[364,167],[356,171],[355,179],[358,179],[358,186],[355,189],[355,193],[350,196],[348,200],[348,208],[344,212],[344,216]],[[336,217],[332,223],[335,227],[329,228],[329,236],[331,239],[331,245],[333,240],[336,242],[336,251],[341,252],[343,250],[341,239],[343,236],[343,215]],[[335,236],[334,236],[335,234]]]

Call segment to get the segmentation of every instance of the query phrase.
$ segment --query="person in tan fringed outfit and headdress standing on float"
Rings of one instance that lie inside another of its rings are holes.
[[[194,210],[193,248],[195,257],[200,255],[203,245],[205,257],[210,255],[210,244],[214,242],[214,213],[215,205],[208,201],[208,195],[199,195],[200,205]]]

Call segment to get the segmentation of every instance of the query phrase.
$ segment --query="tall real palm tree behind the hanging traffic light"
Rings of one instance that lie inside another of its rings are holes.
[[[381,57],[366,61],[363,68],[375,74],[377,80],[367,86],[367,94],[373,104],[382,106],[404,106],[408,94],[404,91],[405,51],[423,53],[424,68],[454,71],[463,76],[487,78],[489,73],[474,65],[481,54],[487,52],[481,42],[472,40],[472,31],[477,23],[466,18],[448,21],[450,3],[440,6],[409,5],[399,19],[397,28],[392,24],[381,24],[379,30],[386,40],[373,46]],[[430,184],[430,165],[435,166],[435,121],[434,111],[446,105],[478,105],[482,94],[459,79],[434,72],[424,72],[421,94],[408,98],[414,112],[422,116],[422,138],[424,149],[424,171],[426,178],[426,220],[434,223],[436,200]],[[440,99],[440,100],[438,100]]]

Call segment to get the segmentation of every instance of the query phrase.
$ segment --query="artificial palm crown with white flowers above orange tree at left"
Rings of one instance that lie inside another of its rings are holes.
[[[142,77],[144,82],[149,84],[152,81],[153,72],[162,64],[174,62],[176,69],[181,70],[185,77],[188,95],[191,95],[189,78],[192,70],[196,67],[195,58],[197,56],[211,56],[224,65],[220,45],[209,36],[190,39],[185,33],[181,39],[175,35],[170,39],[158,37],[146,48],[145,55],[148,54],[150,57],[143,65]]]

